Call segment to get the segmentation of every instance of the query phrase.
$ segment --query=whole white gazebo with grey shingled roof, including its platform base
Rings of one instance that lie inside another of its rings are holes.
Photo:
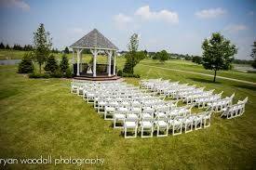
[[[86,80],[115,80],[119,78],[115,75],[115,56],[118,48],[97,29],[92,30],[70,47],[73,49],[73,72],[76,75],[74,78]],[[93,55],[92,65],[82,61],[82,52],[85,49],[88,49]],[[74,63],[74,53],[77,56],[76,63]],[[97,64],[97,56],[102,53],[107,54],[108,64]]]

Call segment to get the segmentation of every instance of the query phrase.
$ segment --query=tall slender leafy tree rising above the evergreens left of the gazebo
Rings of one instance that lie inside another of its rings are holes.
[[[43,23],[34,33],[34,59],[39,64],[39,72],[41,73],[42,65],[46,62],[51,49],[52,43],[49,33],[45,30]]]

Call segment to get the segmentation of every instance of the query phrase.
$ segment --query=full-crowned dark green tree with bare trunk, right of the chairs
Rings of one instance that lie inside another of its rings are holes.
[[[231,69],[231,62],[237,53],[237,48],[221,33],[212,33],[203,44],[203,66],[207,70],[214,71],[213,82],[216,81],[217,71]]]

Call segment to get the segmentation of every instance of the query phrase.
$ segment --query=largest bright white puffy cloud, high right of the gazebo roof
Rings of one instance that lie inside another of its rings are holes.
[[[163,20],[168,23],[178,23],[178,13],[169,11],[167,9],[158,12],[151,11],[149,6],[140,7],[136,10],[135,16],[139,16],[142,20]]]

